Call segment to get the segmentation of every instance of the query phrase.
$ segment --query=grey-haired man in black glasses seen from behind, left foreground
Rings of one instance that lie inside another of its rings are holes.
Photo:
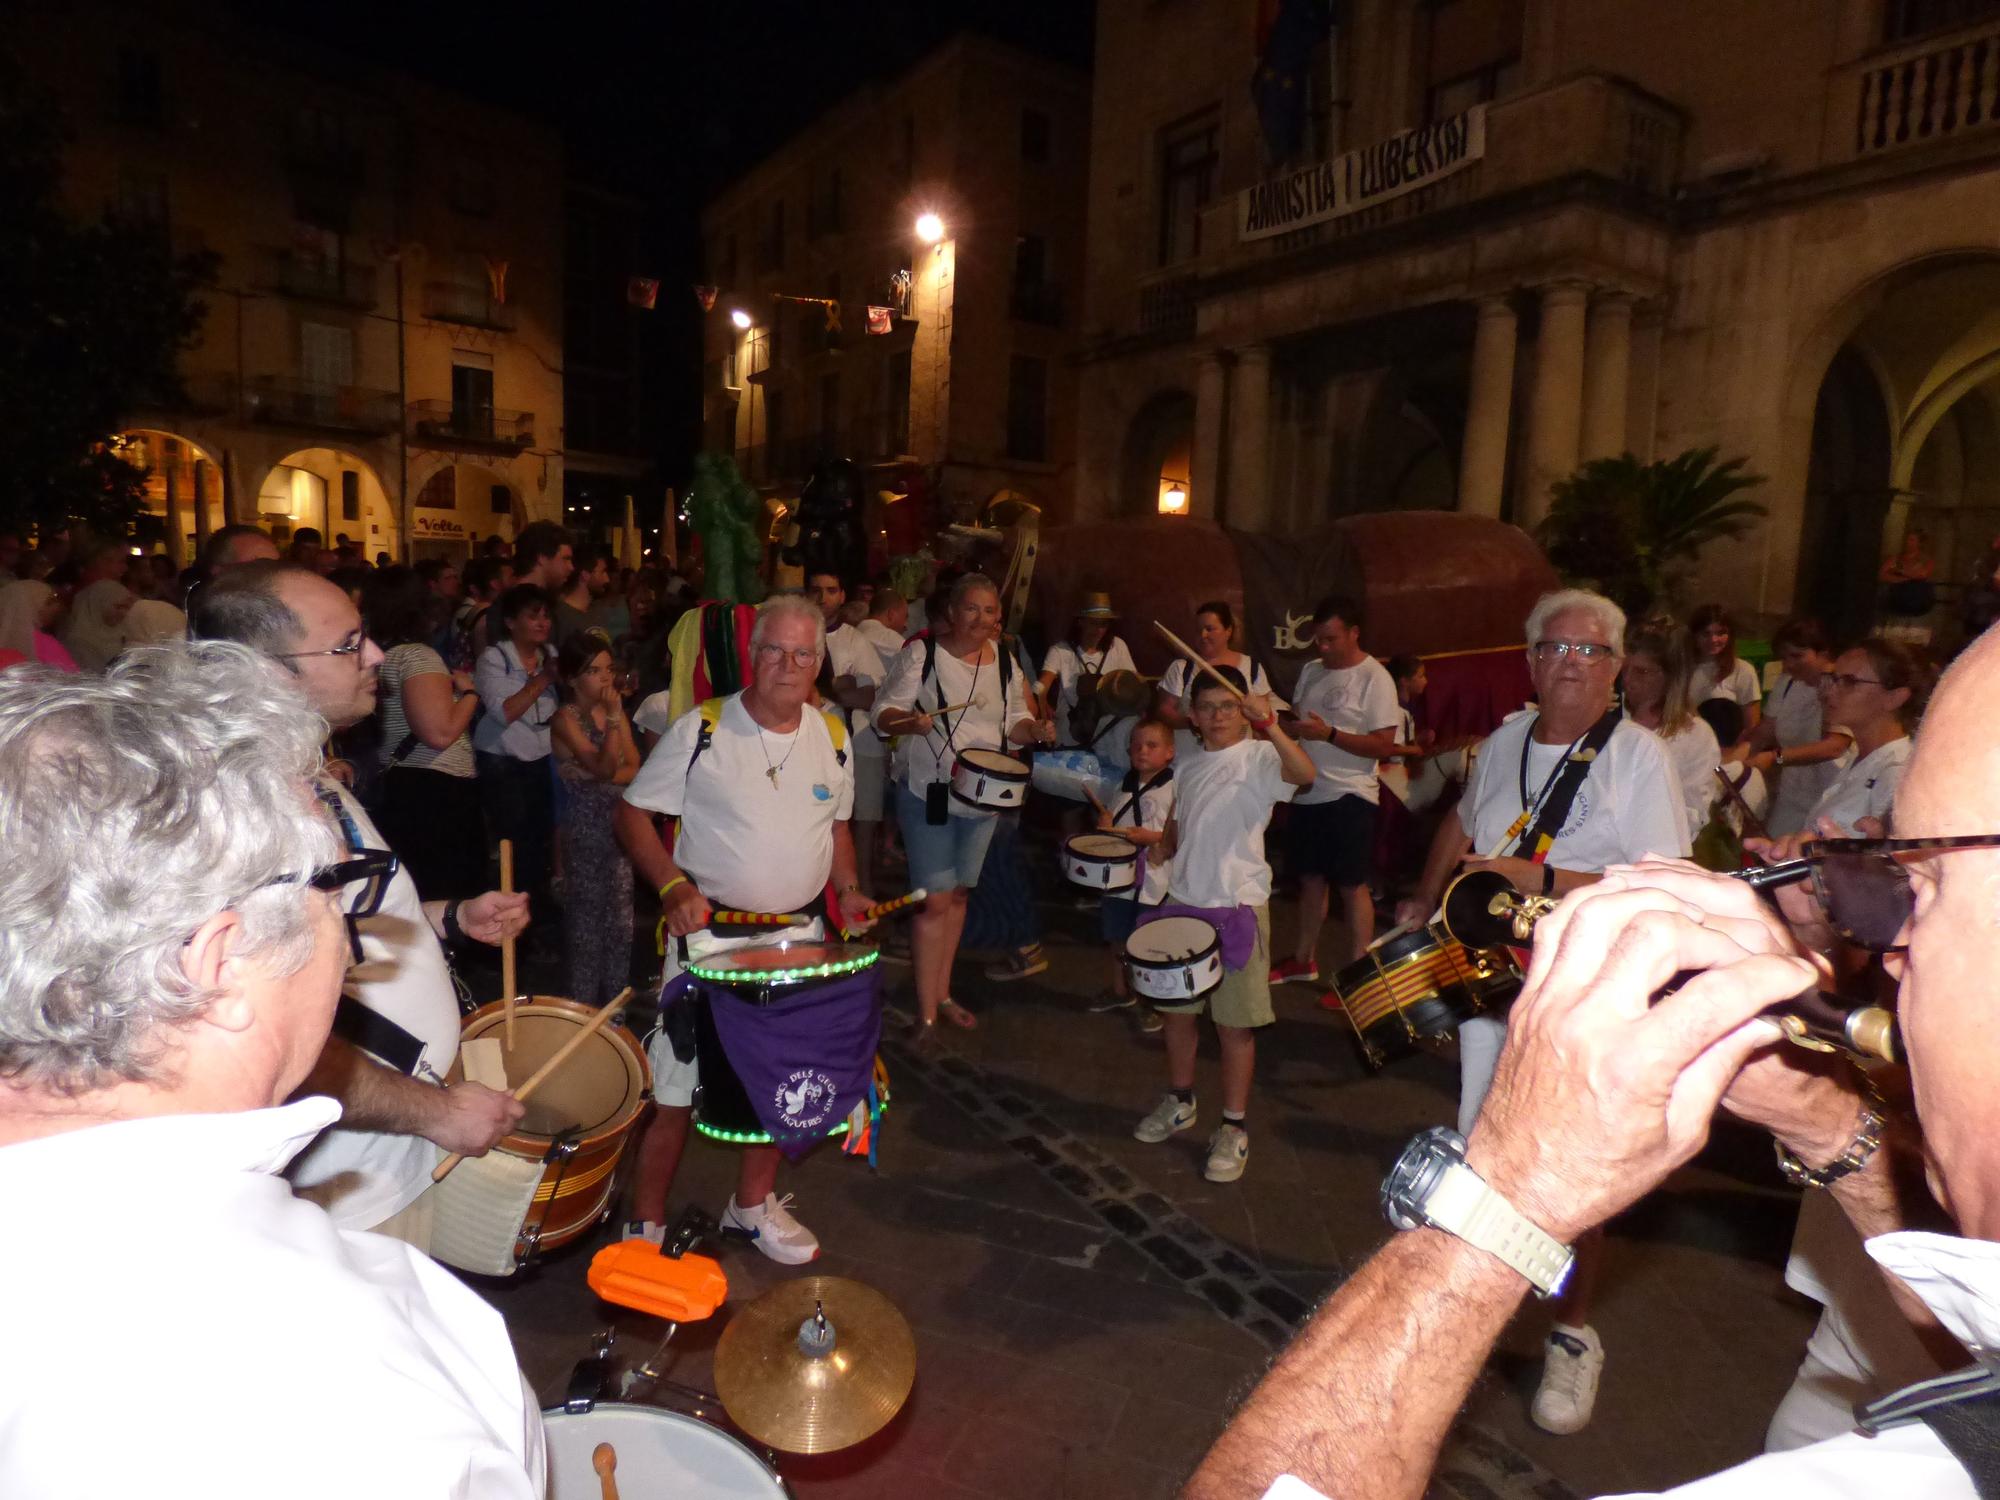
[[[0,676],[0,1494],[542,1494],[500,1316],[284,1164],[354,858],[324,726],[240,646]],[[134,1392],[106,1428],[78,1392]]]

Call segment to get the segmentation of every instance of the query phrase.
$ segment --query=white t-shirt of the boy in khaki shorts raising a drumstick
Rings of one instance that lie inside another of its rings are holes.
[[[1180,846],[1168,892],[1188,906],[1264,906],[1270,866],[1264,828],[1290,802],[1278,748],[1246,736],[1226,750],[1196,750],[1174,762],[1174,826]]]

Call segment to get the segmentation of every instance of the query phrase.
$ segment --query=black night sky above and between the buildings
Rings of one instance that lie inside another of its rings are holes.
[[[258,28],[402,68],[558,126],[570,170],[646,202],[660,278],[648,328],[648,436],[660,482],[684,484],[700,422],[700,208],[816,114],[972,30],[1090,64],[1090,0],[710,0],[464,6],[228,0]],[[644,316],[644,314],[636,314]]]

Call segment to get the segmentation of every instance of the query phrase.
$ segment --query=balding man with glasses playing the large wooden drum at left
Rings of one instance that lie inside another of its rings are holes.
[[[374,712],[382,650],[368,640],[346,590],[288,562],[232,568],[194,602],[190,634],[234,640],[282,662],[330,728]],[[338,820],[350,856],[388,844],[348,788],[328,776],[314,796]],[[466,828],[466,838],[482,830]],[[444,1152],[478,1156],[522,1116],[508,1094],[444,1086],[458,1056],[458,986],[444,942],[500,942],[526,926],[528,898],[486,892],[468,902],[418,900],[404,870],[348,888],[358,948],[346,996],[308,1078],[342,1104],[328,1130],[292,1164],[298,1190],[344,1228],[374,1228],[430,1244],[424,1190]]]

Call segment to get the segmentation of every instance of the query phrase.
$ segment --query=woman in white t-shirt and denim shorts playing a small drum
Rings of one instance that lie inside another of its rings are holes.
[[[1052,744],[1056,738],[1056,726],[1028,710],[1020,668],[1002,670],[1000,590],[992,578],[976,572],[960,578],[940,624],[934,640],[902,648],[874,710],[884,736],[902,736],[894,766],[896,822],[910,856],[910,884],[930,892],[910,932],[926,1036],[940,1014],[954,1026],[978,1024],[950,998],[950,988],[966,928],[966,892],[986,862],[994,814],[952,796],[952,766],[966,750]],[[952,712],[936,712],[942,708]]]

